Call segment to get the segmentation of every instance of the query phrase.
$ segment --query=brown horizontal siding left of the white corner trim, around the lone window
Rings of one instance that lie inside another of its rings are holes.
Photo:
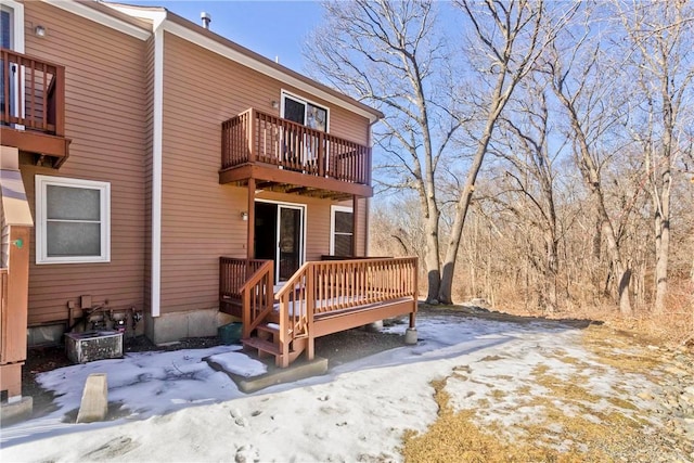
[[[49,31],[43,39],[26,35],[27,54],[65,66],[65,132],[73,140],[60,171],[22,166],[31,209],[37,173],[111,182],[111,262],[37,266],[33,234],[29,324],[66,320],[67,303],[87,294],[93,304],[142,308],[146,44],[42,2],[25,2],[25,21]]]

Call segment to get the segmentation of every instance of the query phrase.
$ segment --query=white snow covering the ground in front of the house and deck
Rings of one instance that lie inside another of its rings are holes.
[[[569,377],[575,364],[557,360],[557,351],[583,364],[592,361],[577,342],[579,330],[557,323],[432,316],[420,318],[417,330],[415,346],[252,395],[202,360],[217,356],[239,374],[261,372],[262,363],[237,346],[130,353],[47,372],[39,381],[55,391],[59,409],[3,428],[0,460],[400,461],[403,432],[423,432],[436,420],[433,380],[451,377],[447,387],[457,407],[501,402],[496,419],[511,425],[527,416],[504,415],[503,402],[513,402],[513,393],[531,381],[538,365]],[[452,381],[461,368],[475,381]],[[90,373],[107,374],[110,402],[120,402],[128,413],[110,422],[64,423],[79,407]],[[611,393],[611,384],[603,369],[594,394]],[[498,390],[506,393],[503,398]]]

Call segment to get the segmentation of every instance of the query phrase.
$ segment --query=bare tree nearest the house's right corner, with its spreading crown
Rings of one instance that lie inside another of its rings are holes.
[[[430,1],[327,2],[306,49],[313,73],[381,108],[382,187],[414,191],[424,217],[427,299],[440,283],[437,168],[461,126]]]

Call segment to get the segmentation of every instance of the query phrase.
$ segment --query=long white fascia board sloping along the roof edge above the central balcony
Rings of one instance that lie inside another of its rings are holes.
[[[294,88],[303,90],[310,95],[318,97],[322,100],[325,100],[336,106],[344,107],[352,113],[357,113],[360,116],[368,118],[371,123],[377,120],[377,117],[368,111],[349,104],[348,102],[340,100],[321,89],[318,89],[304,80],[297,79],[296,77],[286,75],[282,73],[280,69],[268,66],[265,63],[260,63],[257,60],[254,60],[250,56],[247,56],[236,50],[233,50],[229,47],[226,47],[208,37],[203,36],[202,34],[197,34],[187,27],[181,26],[180,24],[174,23],[171,21],[165,21],[164,30],[167,33],[171,33],[178,37],[181,37],[190,42],[193,42],[204,49],[207,49],[214,53],[220,54],[231,61],[234,61],[239,64],[242,64],[250,69],[257,70],[260,74],[265,74],[266,76],[272,77],[281,82],[287,83]]]

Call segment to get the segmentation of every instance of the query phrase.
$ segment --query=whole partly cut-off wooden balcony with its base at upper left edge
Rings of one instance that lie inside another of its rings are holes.
[[[65,67],[0,49],[0,140],[59,168],[65,138]]]

